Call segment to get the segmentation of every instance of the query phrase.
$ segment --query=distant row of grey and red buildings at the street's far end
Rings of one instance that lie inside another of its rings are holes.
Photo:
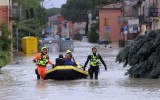
[[[85,35],[86,22],[75,22],[65,20],[60,14],[48,18],[50,34],[62,38],[79,39]],[[80,36],[80,37],[79,37]]]

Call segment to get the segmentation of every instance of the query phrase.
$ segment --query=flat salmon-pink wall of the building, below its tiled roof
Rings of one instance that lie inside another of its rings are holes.
[[[108,19],[108,25],[110,27],[110,32],[108,35],[110,36],[110,39],[112,43],[118,43],[120,39],[120,29],[121,26],[118,23],[118,17],[121,16],[120,9],[105,9],[102,8],[99,11],[99,19],[100,19],[100,33],[99,33],[99,39],[100,41],[106,40],[106,34],[105,31],[105,22],[104,19]]]

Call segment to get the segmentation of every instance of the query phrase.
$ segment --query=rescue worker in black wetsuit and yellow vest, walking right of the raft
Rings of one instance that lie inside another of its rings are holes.
[[[90,61],[90,68],[89,68],[89,71],[88,71],[90,79],[93,79],[93,74],[95,74],[95,79],[98,79],[99,60],[104,65],[105,70],[107,70],[107,66],[106,66],[105,62],[103,61],[101,55],[97,54],[97,48],[96,47],[92,47],[92,54],[88,55],[87,61],[85,62],[85,65],[83,67],[83,70],[85,71],[86,65]]]

